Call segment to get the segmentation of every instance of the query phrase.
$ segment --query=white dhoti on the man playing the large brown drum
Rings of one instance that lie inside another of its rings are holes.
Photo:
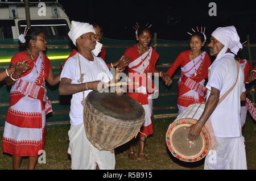
[[[96,163],[100,170],[115,169],[115,154],[93,146],[85,135],[84,124],[71,125],[68,136],[71,169],[93,170],[96,169]]]

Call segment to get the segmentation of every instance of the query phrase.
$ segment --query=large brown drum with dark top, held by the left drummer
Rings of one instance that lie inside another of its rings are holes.
[[[100,150],[113,150],[137,136],[144,116],[141,104],[126,94],[92,91],[85,100],[86,137]]]

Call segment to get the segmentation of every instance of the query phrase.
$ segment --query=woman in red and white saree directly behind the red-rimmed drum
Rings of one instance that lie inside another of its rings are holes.
[[[192,35],[190,40],[191,50],[181,52],[174,64],[167,70],[171,77],[175,70],[181,65],[181,76],[178,81],[177,107],[179,114],[190,104],[204,102],[206,88],[205,78],[208,77],[210,56],[201,51],[205,44],[204,36],[200,32]]]

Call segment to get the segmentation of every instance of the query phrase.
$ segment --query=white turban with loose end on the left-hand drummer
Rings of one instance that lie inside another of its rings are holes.
[[[68,32],[68,36],[72,40],[73,44],[76,46],[76,39],[84,33],[88,32],[93,32],[94,34],[96,34],[96,31],[91,24],[71,21],[71,30]],[[98,56],[98,53],[101,52],[101,48],[102,44],[96,41],[96,46],[95,49],[92,50],[92,53],[95,56]]]

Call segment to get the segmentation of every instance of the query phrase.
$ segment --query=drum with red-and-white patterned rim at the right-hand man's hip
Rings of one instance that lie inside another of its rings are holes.
[[[196,141],[188,140],[189,128],[199,120],[205,108],[204,103],[191,104],[167,129],[166,143],[174,157],[185,162],[203,159],[210,149],[210,136],[205,127]]]

